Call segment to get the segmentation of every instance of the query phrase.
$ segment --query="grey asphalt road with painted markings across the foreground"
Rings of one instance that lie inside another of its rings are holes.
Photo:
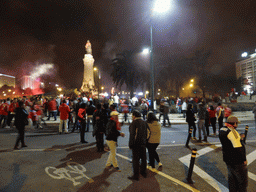
[[[242,122],[238,132],[244,132],[246,124],[248,191],[255,191],[256,130],[254,122],[247,121]],[[132,175],[127,125],[122,127],[126,137],[118,140],[121,172],[105,169],[108,152],[97,152],[91,132],[86,133],[88,144],[79,143],[79,133],[27,135],[28,147],[17,151],[12,150],[17,134],[1,132],[0,191],[228,191],[227,169],[218,137],[209,137],[207,143],[190,142],[191,148],[197,149],[197,156],[192,174],[194,184],[186,182],[191,158],[191,150],[184,147],[187,129],[185,124],[163,127],[157,149],[163,167],[148,170],[147,178],[140,177],[140,181],[134,182],[127,179]]]

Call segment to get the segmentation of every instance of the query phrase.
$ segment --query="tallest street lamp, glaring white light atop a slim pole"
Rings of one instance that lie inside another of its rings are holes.
[[[156,0],[153,11],[158,13],[167,12],[171,6],[170,0]],[[150,71],[151,71],[151,108],[154,111],[154,83],[155,83],[155,71],[153,63],[153,23],[151,18],[150,24]]]

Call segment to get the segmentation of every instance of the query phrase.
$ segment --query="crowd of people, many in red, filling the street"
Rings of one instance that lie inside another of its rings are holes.
[[[155,111],[149,111],[149,101],[146,99],[110,99],[109,102],[95,102],[85,96],[76,99],[69,98],[15,98],[13,100],[2,100],[0,105],[0,125],[1,128],[12,127],[15,125],[18,130],[18,137],[14,150],[27,147],[24,141],[25,126],[42,128],[42,122],[54,121],[60,116],[59,134],[80,131],[80,142],[87,143],[85,132],[92,126],[92,135],[96,139],[98,152],[109,151],[106,168],[113,167],[120,171],[116,159],[116,146],[118,137],[124,137],[121,132],[123,122],[119,122],[120,113],[124,114],[124,122],[128,120],[127,114],[132,114],[132,121],[129,122],[129,148],[132,150],[133,175],[128,177],[130,180],[139,180],[139,174],[147,177],[146,149],[149,154],[149,166],[155,169],[155,162],[162,167],[156,148],[161,140],[161,128],[166,125],[171,126],[169,120],[170,103],[167,99],[162,99],[159,105],[159,118]],[[95,104],[94,104],[95,103]],[[206,103],[204,100],[195,101],[193,98],[177,98],[176,108],[178,113],[183,113],[188,123],[188,129],[193,130],[193,140],[207,142],[210,136],[209,126],[212,126],[212,136],[219,134],[223,149],[223,159],[227,164],[229,173],[229,188],[242,190],[247,187],[247,161],[245,147],[241,140],[243,135],[236,131],[239,123],[236,117],[231,116],[231,109],[227,105],[213,102]],[[256,111],[256,108],[254,112]],[[161,117],[163,122],[161,125]],[[14,122],[13,122],[14,119]],[[72,121],[72,127],[69,122]],[[197,126],[196,126],[197,122]],[[216,124],[218,122],[218,131]],[[225,124],[224,124],[225,122]],[[198,128],[198,139],[196,131]],[[104,137],[105,136],[105,137]],[[202,137],[203,136],[203,137]],[[106,140],[105,147],[104,138]],[[186,147],[189,147],[186,145]],[[239,165],[239,166],[238,166]],[[241,177],[242,176],[242,177]]]

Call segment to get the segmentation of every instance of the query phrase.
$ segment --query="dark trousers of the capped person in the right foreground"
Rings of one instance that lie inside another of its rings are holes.
[[[227,165],[228,188],[230,192],[246,192],[248,186],[247,165]]]

